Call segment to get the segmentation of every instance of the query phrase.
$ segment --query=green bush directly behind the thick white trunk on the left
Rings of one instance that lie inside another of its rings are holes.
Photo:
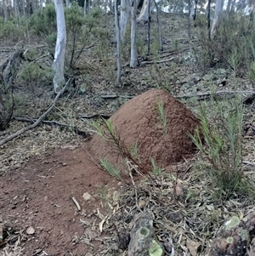
[[[74,68],[77,60],[81,57],[83,49],[88,45],[97,42],[98,53],[106,56],[108,31],[99,28],[101,11],[91,10],[85,17],[82,8],[76,1],[71,3],[70,8],[65,8],[66,25],[66,65]],[[29,20],[31,32],[39,37],[46,38],[49,51],[54,53],[57,38],[57,25],[54,4],[48,4],[44,9],[37,10]]]

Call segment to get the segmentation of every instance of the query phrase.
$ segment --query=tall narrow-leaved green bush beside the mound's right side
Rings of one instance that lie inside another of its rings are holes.
[[[199,117],[201,129],[196,130],[195,135],[190,137],[201,151],[202,171],[209,174],[218,199],[226,199],[233,192],[239,195],[249,193],[251,185],[241,169],[241,100],[212,100],[212,105],[201,104]],[[205,165],[207,170],[204,169]]]

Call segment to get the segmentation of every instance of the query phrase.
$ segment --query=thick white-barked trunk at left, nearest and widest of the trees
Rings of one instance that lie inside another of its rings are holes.
[[[65,45],[66,45],[66,31],[65,31],[65,13],[63,0],[54,0],[54,6],[57,14],[57,43],[54,54],[54,92],[58,94],[65,84],[64,65],[65,65]]]

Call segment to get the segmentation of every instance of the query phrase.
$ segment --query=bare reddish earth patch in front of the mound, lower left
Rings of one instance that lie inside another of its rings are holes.
[[[82,148],[55,150],[44,159],[31,159],[23,168],[8,172],[0,179],[0,209],[6,230],[15,234],[9,242],[20,240],[22,255],[95,255],[104,247],[106,236],[98,229],[105,216],[99,198],[105,185],[118,187]],[[93,198],[85,201],[85,192]],[[27,234],[29,227],[34,230],[31,235]]]

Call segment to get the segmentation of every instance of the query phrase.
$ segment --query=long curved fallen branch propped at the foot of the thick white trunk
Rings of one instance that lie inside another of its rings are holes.
[[[65,88],[71,83],[71,80],[72,80],[72,79],[70,78],[70,79],[65,83],[65,87],[56,95],[53,104],[48,108],[47,111],[45,111],[45,112],[42,114],[41,117],[39,117],[39,118],[37,119],[36,122],[34,122],[33,124],[31,124],[30,126],[27,126],[26,128],[20,129],[20,130],[17,131],[15,134],[12,134],[12,135],[8,136],[8,137],[5,138],[5,139],[0,140],[0,145],[3,145],[3,144],[5,144],[5,143],[7,143],[8,141],[10,141],[10,140],[12,140],[12,139],[14,139],[14,138],[20,136],[20,134],[23,134],[23,133],[25,133],[26,131],[31,130],[32,128],[36,128],[37,125],[38,125],[40,122],[42,122],[42,120],[48,115],[48,113],[54,109],[54,106],[55,106],[57,100],[59,100],[59,96],[60,96],[61,94],[63,94],[63,92],[65,92]]]

